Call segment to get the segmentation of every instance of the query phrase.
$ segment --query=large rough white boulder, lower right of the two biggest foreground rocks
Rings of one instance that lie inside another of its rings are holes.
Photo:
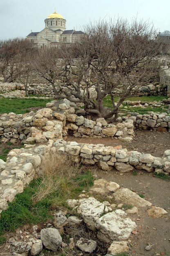
[[[117,209],[98,218],[95,225],[98,230],[98,239],[106,243],[128,239],[132,230],[136,228],[136,223],[125,216],[124,211]]]

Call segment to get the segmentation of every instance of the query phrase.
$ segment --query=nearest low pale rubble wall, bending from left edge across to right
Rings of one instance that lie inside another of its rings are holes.
[[[25,144],[24,148],[15,148],[8,154],[7,161],[0,159],[0,211],[6,210],[16,194],[38,175],[40,165],[52,154],[68,154],[75,163],[98,165],[105,171],[120,173],[145,170],[147,172],[170,174],[170,149],[163,157],[154,157],[137,151],[112,147],[103,144],[78,144],[63,139],[49,139],[47,144],[39,146]]]

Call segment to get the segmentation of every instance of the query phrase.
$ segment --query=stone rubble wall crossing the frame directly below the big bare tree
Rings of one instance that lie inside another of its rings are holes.
[[[46,108],[37,112],[16,115],[0,115],[0,141],[15,143],[44,143],[48,139],[62,139],[67,135],[74,137],[112,137],[132,141],[134,129],[170,130],[170,115],[154,113],[119,117],[115,124],[107,124],[104,118],[96,121],[75,114],[76,104],[64,99],[51,101]]]

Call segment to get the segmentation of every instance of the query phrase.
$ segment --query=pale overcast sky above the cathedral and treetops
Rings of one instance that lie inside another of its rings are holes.
[[[170,0],[0,0],[0,39],[25,38],[45,28],[49,14],[60,13],[66,29],[83,30],[95,20],[127,18],[152,22],[170,31]]]

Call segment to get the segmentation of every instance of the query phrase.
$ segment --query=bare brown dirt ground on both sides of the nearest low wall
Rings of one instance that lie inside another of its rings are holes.
[[[170,133],[156,132],[152,130],[135,130],[135,138],[132,142],[124,142],[111,138],[74,138],[68,137],[67,141],[78,143],[105,144],[106,146],[122,145],[122,148],[137,150],[141,153],[150,153],[156,157],[162,157],[166,149],[170,149]],[[150,218],[147,209],[139,209],[139,214],[129,217],[136,222],[136,234],[129,238],[130,255],[132,256],[170,256],[170,180],[162,180],[154,177],[153,173],[138,171],[133,173],[119,173],[119,171],[102,171],[95,169],[94,174],[98,178],[118,183],[123,188],[128,188],[136,193],[145,195],[145,200],[165,209],[168,214],[162,218]],[[145,247],[151,244],[150,251]]]

